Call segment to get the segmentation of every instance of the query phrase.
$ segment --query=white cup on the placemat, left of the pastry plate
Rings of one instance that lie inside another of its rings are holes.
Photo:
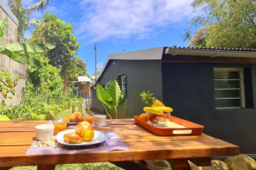
[[[40,124],[34,127],[37,140],[49,140],[54,134],[53,124]]]

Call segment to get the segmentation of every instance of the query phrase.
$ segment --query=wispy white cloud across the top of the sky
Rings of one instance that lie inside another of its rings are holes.
[[[191,18],[192,0],[83,0],[79,34],[91,41],[144,39]]]

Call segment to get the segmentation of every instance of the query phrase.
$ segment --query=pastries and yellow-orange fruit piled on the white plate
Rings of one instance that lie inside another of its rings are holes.
[[[81,144],[94,138],[94,127],[90,122],[79,122],[75,127],[76,132],[64,135],[64,142],[69,144]]]

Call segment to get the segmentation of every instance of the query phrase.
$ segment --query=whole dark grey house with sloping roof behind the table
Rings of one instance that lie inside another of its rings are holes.
[[[150,91],[174,109],[172,115],[204,125],[206,134],[239,145],[241,152],[256,152],[255,49],[174,47],[111,54],[96,83],[114,79],[126,87],[125,117],[143,113],[139,93]],[[92,107],[104,113],[94,86],[91,90]]]

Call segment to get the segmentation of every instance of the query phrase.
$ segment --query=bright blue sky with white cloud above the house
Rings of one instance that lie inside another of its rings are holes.
[[[36,0],[24,0],[26,6]],[[104,65],[111,53],[158,47],[187,47],[183,35],[192,19],[192,0],[52,0],[44,12],[74,27],[80,43],[78,56],[87,72]]]

